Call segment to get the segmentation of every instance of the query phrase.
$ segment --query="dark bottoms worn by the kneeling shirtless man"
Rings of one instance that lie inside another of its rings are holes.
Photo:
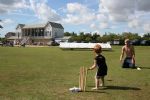
[[[122,68],[135,68],[135,64],[132,64],[132,58],[126,57],[122,64]]]

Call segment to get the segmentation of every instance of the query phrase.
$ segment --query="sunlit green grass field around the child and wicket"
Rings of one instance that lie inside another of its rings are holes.
[[[87,75],[86,92],[78,87],[79,68],[93,64],[93,51],[58,47],[0,47],[0,100],[148,100],[150,99],[150,46],[138,46],[136,63],[142,70],[122,69],[121,46],[103,51],[108,65],[106,87],[94,87],[95,71]]]

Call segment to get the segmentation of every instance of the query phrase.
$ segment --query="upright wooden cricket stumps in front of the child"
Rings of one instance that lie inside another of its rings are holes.
[[[87,76],[87,68],[80,67],[79,88],[83,92],[85,91],[86,88],[86,76]]]

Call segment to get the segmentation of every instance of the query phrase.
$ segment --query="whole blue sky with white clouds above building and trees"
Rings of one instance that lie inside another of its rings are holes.
[[[0,0],[0,37],[18,24],[61,23],[65,32],[150,32],[150,0]]]

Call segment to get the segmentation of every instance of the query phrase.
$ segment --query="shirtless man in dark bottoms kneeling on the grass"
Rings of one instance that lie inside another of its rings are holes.
[[[123,61],[124,54],[126,57]],[[120,61],[123,62],[123,68],[135,68],[135,51],[129,39],[125,40],[125,45],[122,47]]]

